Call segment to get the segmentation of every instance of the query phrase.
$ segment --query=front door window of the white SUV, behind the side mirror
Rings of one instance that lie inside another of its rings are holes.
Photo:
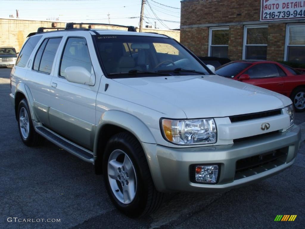
[[[92,64],[85,38],[68,38],[60,64],[60,76],[65,77],[67,67],[80,66],[91,73]]]

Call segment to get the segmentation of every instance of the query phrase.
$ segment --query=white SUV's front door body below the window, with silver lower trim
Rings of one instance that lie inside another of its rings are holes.
[[[95,125],[95,99],[92,86],[54,78],[49,119],[51,128],[86,148],[91,148],[91,132]]]

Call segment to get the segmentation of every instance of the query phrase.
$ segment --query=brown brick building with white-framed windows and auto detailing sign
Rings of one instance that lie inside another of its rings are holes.
[[[305,1],[183,0],[180,41],[198,56],[305,63]]]

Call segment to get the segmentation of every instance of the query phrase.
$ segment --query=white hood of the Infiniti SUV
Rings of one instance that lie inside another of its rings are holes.
[[[218,75],[113,80],[129,88],[124,100],[140,103],[167,115],[172,113],[170,109],[176,107],[187,118],[242,115],[283,108],[292,103],[281,94]]]

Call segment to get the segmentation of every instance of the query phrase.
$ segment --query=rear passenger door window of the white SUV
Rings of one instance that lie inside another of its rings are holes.
[[[54,62],[54,58],[58,49],[58,46],[60,44],[62,38],[48,38],[48,41],[45,45],[45,48],[43,50],[39,68],[38,70],[41,72],[45,72],[50,74]],[[38,50],[39,52],[40,50]],[[38,53],[37,53],[38,54]],[[39,57],[39,56],[37,56]],[[35,60],[36,61],[36,60]],[[35,63],[34,61],[34,63]]]

